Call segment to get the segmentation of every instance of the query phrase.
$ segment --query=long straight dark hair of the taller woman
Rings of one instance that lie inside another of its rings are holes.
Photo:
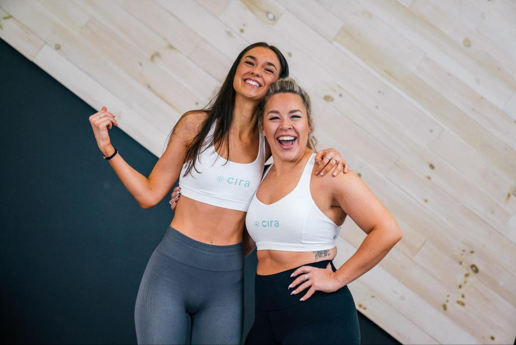
[[[240,63],[240,60],[242,59],[244,54],[257,46],[268,48],[271,51],[275,52],[278,56],[278,59],[280,60],[281,66],[279,77],[284,78],[288,76],[287,60],[280,52],[280,50],[275,46],[269,45],[265,42],[257,42],[247,46],[243,51],[241,51],[235,59],[235,62],[233,62],[233,66],[231,66],[231,69],[229,70],[228,75],[222,83],[222,86],[220,87],[217,94],[212,98],[212,100],[209,101],[209,103],[203,109],[192,110],[183,115],[184,117],[194,112],[203,112],[208,114],[206,121],[202,125],[201,130],[199,131],[199,134],[197,134],[193,138],[190,146],[186,150],[186,162],[188,165],[185,175],[188,174],[192,169],[195,169],[197,172],[199,172],[195,167],[197,158],[202,151],[204,151],[206,148],[212,145],[215,146],[215,148],[218,150],[220,148],[220,145],[222,145],[222,143],[225,142],[228,149],[227,152],[229,159],[229,130],[231,128],[231,123],[233,122],[233,109],[235,107],[236,95],[236,91],[233,88],[233,80],[235,79],[238,64]],[[213,136],[211,138],[206,138],[206,136],[209,133],[209,130],[212,128],[215,122],[217,122],[217,124]],[[204,145],[205,141],[207,145]]]

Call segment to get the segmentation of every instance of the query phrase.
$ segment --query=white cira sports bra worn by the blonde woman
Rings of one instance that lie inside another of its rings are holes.
[[[341,227],[319,210],[310,194],[314,156],[310,156],[294,190],[280,200],[265,205],[254,195],[246,227],[257,250],[315,252],[335,247]]]

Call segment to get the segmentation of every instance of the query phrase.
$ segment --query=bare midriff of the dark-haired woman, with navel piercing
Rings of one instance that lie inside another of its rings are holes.
[[[189,238],[213,245],[242,242],[246,212],[224,209],[182,195],[170,226]]]

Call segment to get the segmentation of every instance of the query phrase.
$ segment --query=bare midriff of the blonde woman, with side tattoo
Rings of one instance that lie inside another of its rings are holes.
[[[337,255],[337,247],[327,250],[317,250],[315,252],[284,252],[282,250],[258,250],[258,266],[256,274],[270,275],[296,267],[307,263],[333,260]]]

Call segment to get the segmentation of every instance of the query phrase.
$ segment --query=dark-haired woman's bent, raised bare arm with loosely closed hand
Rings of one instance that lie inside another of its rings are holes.
[[[170,136],[167,149],[157,161],[149,177],[133,169],[120,154],[116,154],[108,161],[120,181],[142,208],[156,205],[170,191],[181,172],[186,149],[191,139],[199,132],[205,117],[203,113],[191,113],[179,120]],[[115,148],[111,145],[108,129],[118,126],[115,115],[109,113],[106,107],[102,107],[102,110],[91,115],[89,120],[101,152],[104,156],[113,154]]]

